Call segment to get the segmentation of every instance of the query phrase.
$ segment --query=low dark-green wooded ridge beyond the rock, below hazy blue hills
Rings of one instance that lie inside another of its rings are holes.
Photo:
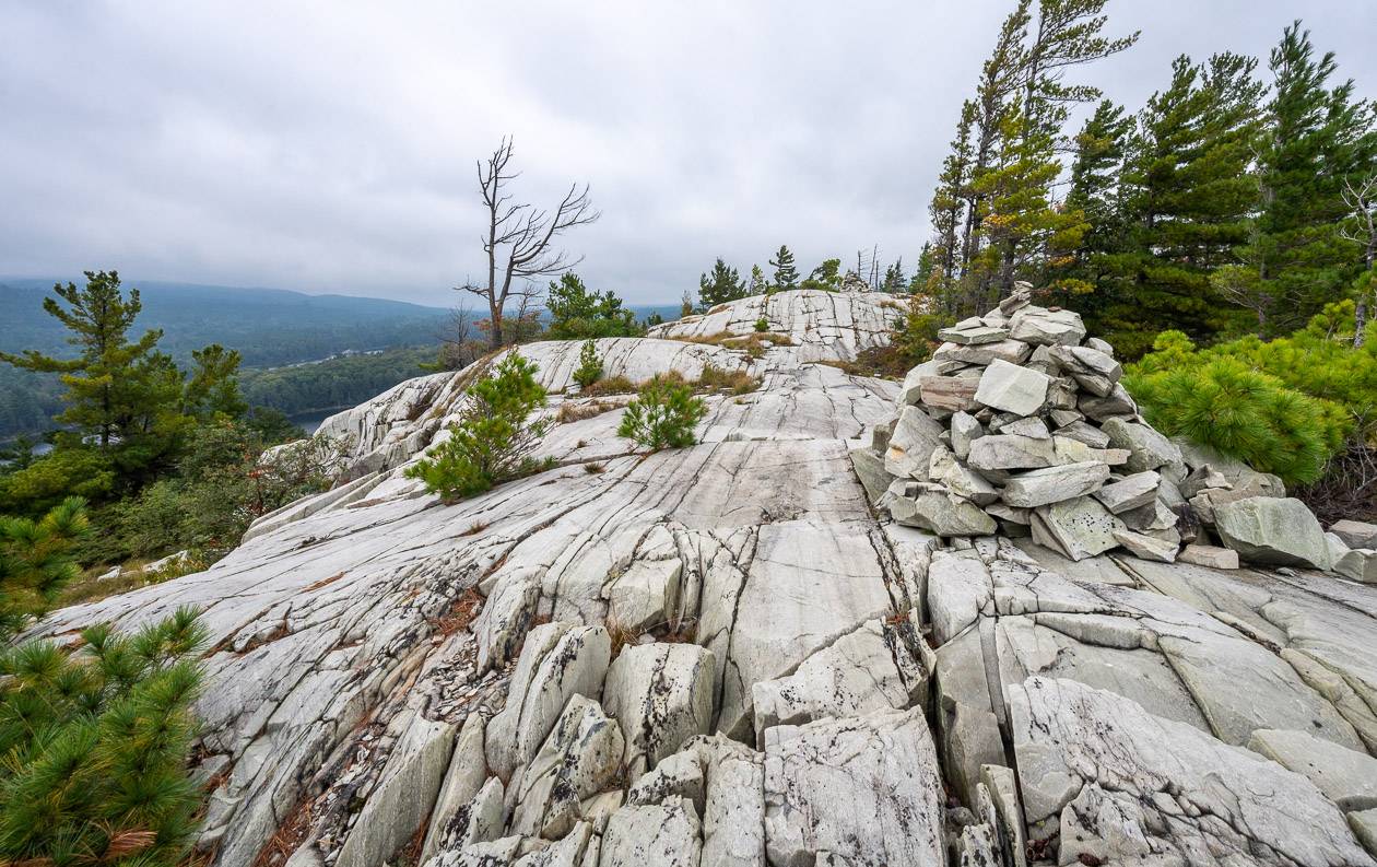
[[[434,346],[406,346],[308,364],[240,374],[244,398],[286,415],[353,407],[397,383],[421,376],[435,361]]]

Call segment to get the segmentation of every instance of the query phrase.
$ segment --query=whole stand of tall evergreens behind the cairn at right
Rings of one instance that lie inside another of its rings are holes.
[[[934,310],[961,318],[1027,280],[1136,357],[1162,331],[1274,338],[1351,298],[1360,335],[1377,252],[1373,102],[1297,22],[1265,66],[1177,58],[1133,113],[1067,83],[1137,37],[1104,36],[1104,6],[1019,0],[1005,19],[929,207],[920,270]],[[1073,132],[1080,105],[1095,108]]]

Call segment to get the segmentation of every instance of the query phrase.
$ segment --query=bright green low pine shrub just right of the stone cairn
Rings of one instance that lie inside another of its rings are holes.
[[[1352,302],[1332,305],[1290,338],[1209,349],[1168,331],[1124,382],[1164,433],[1311,482],[1347,437],[1367,440],[1377,425],[1377,350],[1352,346],[1351,314]]]

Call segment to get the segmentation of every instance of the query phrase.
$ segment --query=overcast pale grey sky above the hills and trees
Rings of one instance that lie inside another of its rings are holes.
[[[917,259],[961,101],[1012,0],[0,0],[0,276],[449,306],[485,274],[475,160],[519,201],[588,183],[595,288],[677,302],[781,244]],[[1373,0],[1110,0],[1077,73],[1139,108],[1172,58],[1264,58],[1304,17],[1377,96]],[[768,269],[767,269],[768,270]]]

